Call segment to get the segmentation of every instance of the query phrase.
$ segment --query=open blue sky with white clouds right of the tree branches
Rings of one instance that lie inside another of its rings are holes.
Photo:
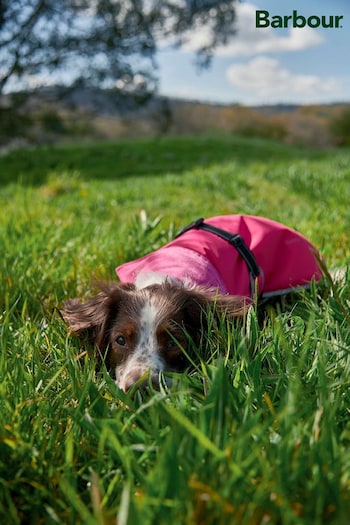
[[[343,16],[339,28],[256,28],[257,10],[272,16]],[[350,0],[243,0],[237,33],[198,71],[195,49],[205,33],[181,49],[162,47],[161,95],[192,100],[261,104],[350,102]]]

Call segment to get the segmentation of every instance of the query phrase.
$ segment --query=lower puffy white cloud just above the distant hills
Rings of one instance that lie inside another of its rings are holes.
[[[293,74],[270,57],[259,56],[246,64],[233,64],[226,76],[235,88],[244,90],[255,103],[322,101],[341,91],[335,78]],[[247,100],[249,103],[249,101]]]

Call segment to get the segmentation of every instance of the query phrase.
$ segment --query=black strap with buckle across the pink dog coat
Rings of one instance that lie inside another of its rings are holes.
[[[180,235],[183,235],[189,230],[196,229],[196,230],[204,230],[210,233],[213,233],[217,235],[218,237],[221,237],[221,239],[224,239],[228,243],[230,243],[232,246],[236,248],[238,253],[241,255],[243,260],[245,261],[251,279],[254,281],[260,275],[261,270],[258,266],[258,263],[256,262],[256,259],[254,257],[253,252],[248,248],[248,246],[245,244],[244,240],[238,233],[230,233],[225,230],[222,230],[221,228],[217,228],[216,226],[213,226],[211,224],[207,224],[204,222],[204,219],[197,219],[196,221],[192,222],[186,228],[180,231],[176,235],[175,238],[180,237]],[[254,290],[252,290],[252,293]]]

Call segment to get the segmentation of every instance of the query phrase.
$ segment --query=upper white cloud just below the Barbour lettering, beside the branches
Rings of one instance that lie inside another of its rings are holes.
[[[283,33],[277,32],[276,29],[256,28],[256,10],[253,4],[237,4],[237,33],[226,46],[216,49],[216,56],[236,57],[268,52],[300,51],[323,42],[321,33],[309,27],[291,28],[287,36],[283,36]],[[208,28],[203,28],[194,32],[182,49],[196,51],[210,41],[209,31]]]

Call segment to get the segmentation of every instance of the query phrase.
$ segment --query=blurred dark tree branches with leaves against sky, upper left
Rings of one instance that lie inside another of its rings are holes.
[[[238,0],[0,0],[0,93],[11,83],[156,89],[161,42],[180,45],[205,27],[197,52],[209,64],[213,49],[234,33]]]

